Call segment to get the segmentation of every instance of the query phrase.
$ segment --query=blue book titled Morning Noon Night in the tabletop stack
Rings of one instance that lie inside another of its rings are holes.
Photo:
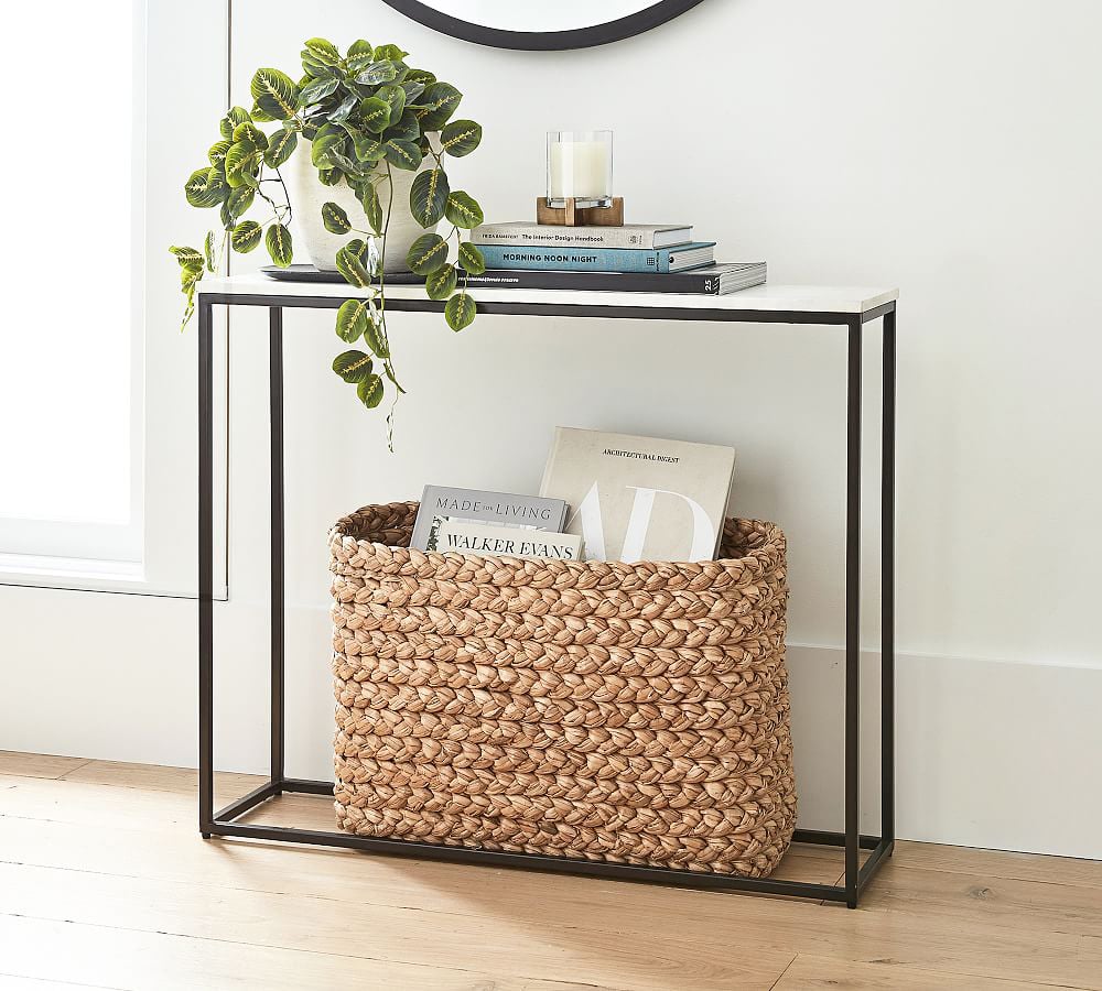
[[[487,269],[555,272],[688,272],[713,262],[715,241],[676,248],[554,248],[479,244]]]

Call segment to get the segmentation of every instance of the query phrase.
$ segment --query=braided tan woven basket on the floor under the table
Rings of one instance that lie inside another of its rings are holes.
[[[796,824],[780,529],[548,562],[408,549],[417,507],[329,535],[341,828],[769,873]]]

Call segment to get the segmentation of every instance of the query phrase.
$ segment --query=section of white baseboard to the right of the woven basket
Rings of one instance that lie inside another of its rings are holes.
[[[841,829],[844,653],[789,645],[801,825]],[[1102,669],[900,654],[900,839],[1102,859]],[[879,830],[879,655],[862,655],[862,830]]]

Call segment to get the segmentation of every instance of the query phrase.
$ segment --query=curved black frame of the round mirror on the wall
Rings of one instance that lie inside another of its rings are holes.
[[[503,31],[499,28],[486,28],[483,24],[474,24],[471,21],[463,21],[441,13],[439,10],[433,10],[419,2],[419,0],[382,0],[382,2],[399,13],[412,18],[414,21],[420,21],[426,28],[432,28],[433,31],[440,31],[442,34],[450,34],[452,37],[460,37],[463,41],[491,45],[495,48],[554,52],[564,48],[588,48],[593,45],[606,45],[609,42],[641,34],[644,31],[649,31],[651,28],[657,28],[659,24],[665,24],[679,14],[683,14],[700,3],[700,0],[660,0],[659,3],[652,3],[626,18],[571,31]]]

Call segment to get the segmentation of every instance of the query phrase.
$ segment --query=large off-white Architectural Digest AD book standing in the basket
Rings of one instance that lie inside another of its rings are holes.
[[[734,470],[730,447],[557,427],[540,494],[570,504],[588,560],[710,560]]]

